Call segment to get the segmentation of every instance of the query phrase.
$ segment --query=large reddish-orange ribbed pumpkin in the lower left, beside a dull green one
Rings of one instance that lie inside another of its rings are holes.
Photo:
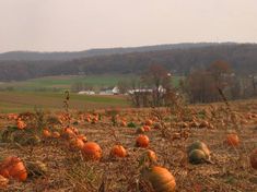
[[[13,178],[17,181],[25,181],[27,170],[19,157],[7,157],[0,166],[0,175],[5,178]]]

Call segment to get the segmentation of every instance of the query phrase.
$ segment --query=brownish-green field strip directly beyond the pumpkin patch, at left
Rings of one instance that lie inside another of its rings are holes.
[[[0,92],[0,112],[32,111],[35,108],[43,110],[62,110],[63,98],[63,93]],[[128,106],[128,99],[121,96],[89,96],[77,94],[71,94],[70,96],[70,109],[75,110]]]

